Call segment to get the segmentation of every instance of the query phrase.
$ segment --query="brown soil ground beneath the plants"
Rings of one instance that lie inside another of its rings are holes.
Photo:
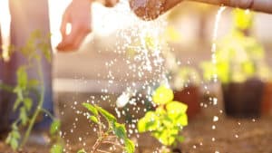
[[[92,124],[83,117],[82,109],[77,111],[80,104],[74,102],[75,100],[90,100],[90,96],[69,96],[59,99],[65,151],[74,153],[79,148],[90,150],[96,139],[95,132],[93,132]],[[109,104],[102,107],[111,108]],[[114,112],[113,109],[112,112]],[[214,121],[217,117],[218,121]],[[259,119],[232,119],[225,117],[218,108],[206,109],[194,119],[189,120],[189,126],[180,133],[184,135],[185,141],[179,148],[182,149],[182,153],[272,153],[271,127],[272,116]],[[141,134],[138,139],[136,137],[137,135],[131,135],[131,138],[139,145],[136,153],[151,153],[160,148],[157,140],[148,134]],[[27,146],[20,153],[48,152],[47,147]],[[115,152],[121,153],[120,150]],[[1,141],[0,153],[13,153],[13,151]]]

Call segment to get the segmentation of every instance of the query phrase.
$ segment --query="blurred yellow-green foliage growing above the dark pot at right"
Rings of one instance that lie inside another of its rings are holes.
[[[218,77],[222,83],[246,81],[250,77],[262,77],[267,71],[262,45],[244,31],[251,27],[253,14],[241,10],[233,14],[235,22],[231,33],[217,42],[216,63],[201,63],[205,80]]]

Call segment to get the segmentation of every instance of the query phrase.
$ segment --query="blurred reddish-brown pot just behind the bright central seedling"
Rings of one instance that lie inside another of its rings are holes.
[[[193,118],[200,112],[199,87],[189,86],[182,91],[174,91],[174,100],[178,100],[188,105],[187,115]]]

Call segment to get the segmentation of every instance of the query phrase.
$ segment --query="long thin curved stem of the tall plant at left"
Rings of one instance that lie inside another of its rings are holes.
[[[40,61],[37,60],[37,68],[38,68],[38,76],[40,78],[41,81],[41,96],[40,96],[40,100],[38,102],[38,106],[37,109],[34,111],[34,116],[32,117],[32,119],[30,120],[29,126],[24,134],[24,139],[20,145],[20,148],[24,147],[25,143],[27,142],[30,132],[34,127],[34,122],[37,118],[37,116],[39,115],[40,111],[42,110],[43,104],[44,104],[44,75],[42,72],[42,64]]]

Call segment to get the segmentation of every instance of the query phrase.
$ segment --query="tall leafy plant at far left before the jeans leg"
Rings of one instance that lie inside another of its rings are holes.
[[[14,47],[10,52],[21,52],[26,62],[21,65],[16,71],[16,85],[12,87],[7,84],[1,84],[1,89],[5,91],[12,91],[16,95],[13,110],[19,110],[19,116],[12,124],[12,130],[9,132],[5,142],[11,146],[14,150],[18,148],[24,148],[31,131],[34,127],[34,123],[37,120],[40,113],[45,113],[52,118],[53,124],[50,129],[50,134],[53,141],[52,153],[63,152],[61,148],[61,139],[59,136],[60,121],[56,120],[53,115],[43,109],[44,104],[44,74],[42,71],[42,56],[38,53],[41,52],[48,62],[51,62],[50,45],[48,45],[48,37],[44,37],[39,31],[35,31],[31,34],[26,44],[16,49]],[[38,79],[29,78],[27,71],[36,69]],[[37,106],[34,108],[34,96],[38,100]],[[26,129],[24,135],[21,133],[21,129]]]

